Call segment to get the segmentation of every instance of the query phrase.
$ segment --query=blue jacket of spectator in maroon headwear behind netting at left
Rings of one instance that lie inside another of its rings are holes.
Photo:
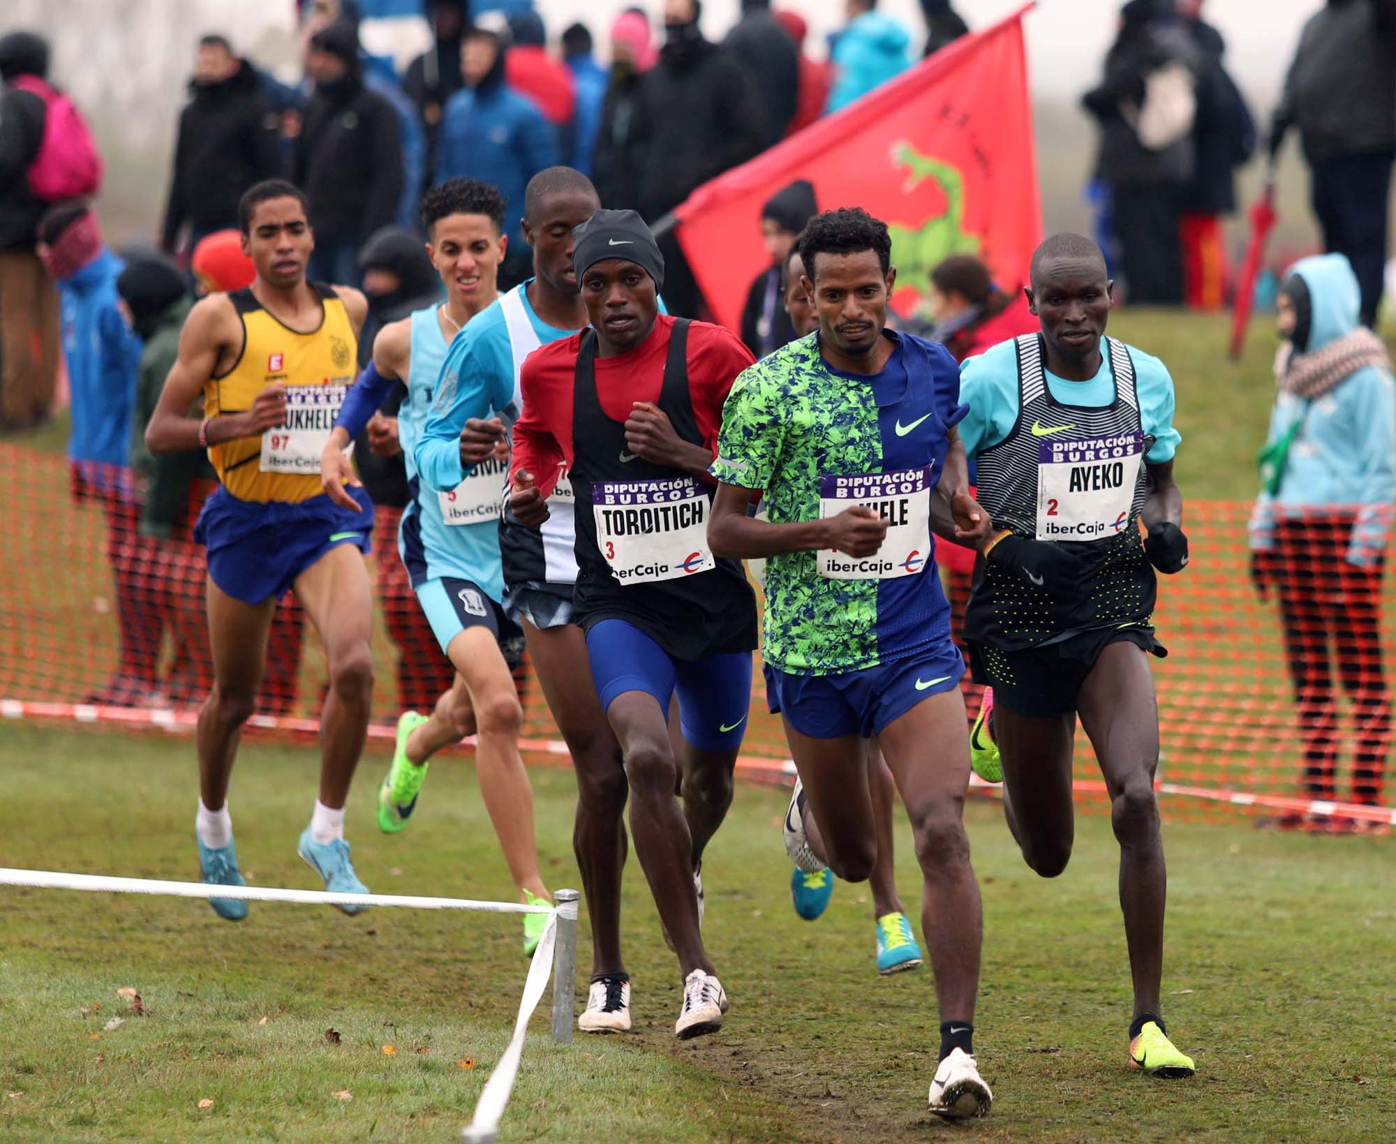
[[[73,405],[68,458],[78,466],[96,462],[88,476],[103,488],[124,483],[102,466],[124,470],[130,462],[135,371],[141,364],[141,339],[116,306],[116,279],[123,269],[126,264],[103,248],[59,282],[63,359]]]

